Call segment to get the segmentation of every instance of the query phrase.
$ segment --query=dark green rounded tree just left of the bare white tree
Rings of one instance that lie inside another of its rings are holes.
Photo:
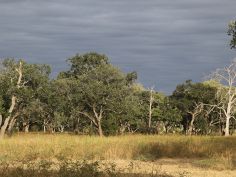
[[[176,87],[171,98],[182,112],[183,126],[186,133],[191,135],[194,123],[204,111],[204,106],[214,104],[216,89],[203,83],[193,83],[188,80]]]

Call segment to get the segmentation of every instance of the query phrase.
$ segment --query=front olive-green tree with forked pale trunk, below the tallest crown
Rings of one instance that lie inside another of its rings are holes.
[[[103,135],[102,121],[109,114],[119,115],[129,94],[125,74],[111,65],[100,66],[80,78],[80,113]]]

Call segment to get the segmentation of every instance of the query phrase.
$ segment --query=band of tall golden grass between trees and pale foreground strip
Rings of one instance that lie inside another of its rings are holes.
[[[100,138],[68,134],[16,134],[0,142],[0,152],[0,161],[5,164],[45,160],[56,163],[71,160],[73,163],[81,160],[156,161],[168,158],[190,161],[201,168],[236,169],[236,137],[127,135]],[[14,169],[18,168],[11,169],[14,173]],[[55,171],[50,174],[58,176]],[[118,173],[116,175],[119,176]]]

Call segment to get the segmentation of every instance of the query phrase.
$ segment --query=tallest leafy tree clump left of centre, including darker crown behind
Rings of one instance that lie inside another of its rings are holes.
[[[108,57],[97,53],[76,55],[69,62],[70,70],[60,73],[58,80],[76,84],[76,89],[70,87],[64,94],[70,97],[67,110],[72,119],[75,118],[75,125],[78,126],[83,117],[87,120],[86,125],[92,123],[100,136],[104,129],[106,134],[118,131],[119,124],[124,122],[121,115],[127,114],[128,109],[130,112],[135,110],[131,108],[135,105],[131,102],[137,74],[124,74],[110,64]]]

